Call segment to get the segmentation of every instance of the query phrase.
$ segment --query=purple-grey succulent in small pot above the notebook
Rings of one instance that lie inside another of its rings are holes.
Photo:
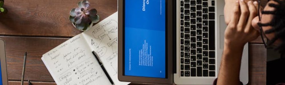
[[[87,0],[79,1],[78,7],[73,8],[70,11],[69,20],[72,22],[74,27],[80,31],[86,31],[94,23],[97,23],[100,19],[95,8],[90,9],[90,4]]]

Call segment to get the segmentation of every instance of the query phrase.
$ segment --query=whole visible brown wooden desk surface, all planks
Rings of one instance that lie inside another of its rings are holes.
[[[9,85],[20,84],[26,51],[25,80],[32,81],[33,85],[56,85],[40,58],[42,54],[81,33],[68,19],[69,11],[77,7],[78,1],[5,0],[9,12],[0,16],[0,38],[6,41]],[[91,8],[98,10],[101,20],[117,11],[117,0],[89,2]],[[260,38],[250,43],[249,55],[249,84],[266,84],[266,49]]]

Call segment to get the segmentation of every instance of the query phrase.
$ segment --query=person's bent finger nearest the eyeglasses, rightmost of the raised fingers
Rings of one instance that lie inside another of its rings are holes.
[[[257,16],[257,9],[255,8],[255,6],[253,5],[252,1],[248,1],[247,5],[249,7],[249,18],[247,20],[247,24],[245,26],[245,32],[249,32],[253,29],[253,27],[251,26],[251,22],[253,20],[253,18],[255,18]]]

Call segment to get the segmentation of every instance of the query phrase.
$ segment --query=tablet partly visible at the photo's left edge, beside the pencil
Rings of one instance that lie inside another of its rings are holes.
[[[4,40],[0,39],[0,85],[8,85]]]

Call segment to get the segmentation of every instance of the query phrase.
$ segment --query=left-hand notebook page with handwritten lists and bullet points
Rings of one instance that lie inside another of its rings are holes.
[[[111,85],[82,34],[76,35],[43,55],[58,85]]]

